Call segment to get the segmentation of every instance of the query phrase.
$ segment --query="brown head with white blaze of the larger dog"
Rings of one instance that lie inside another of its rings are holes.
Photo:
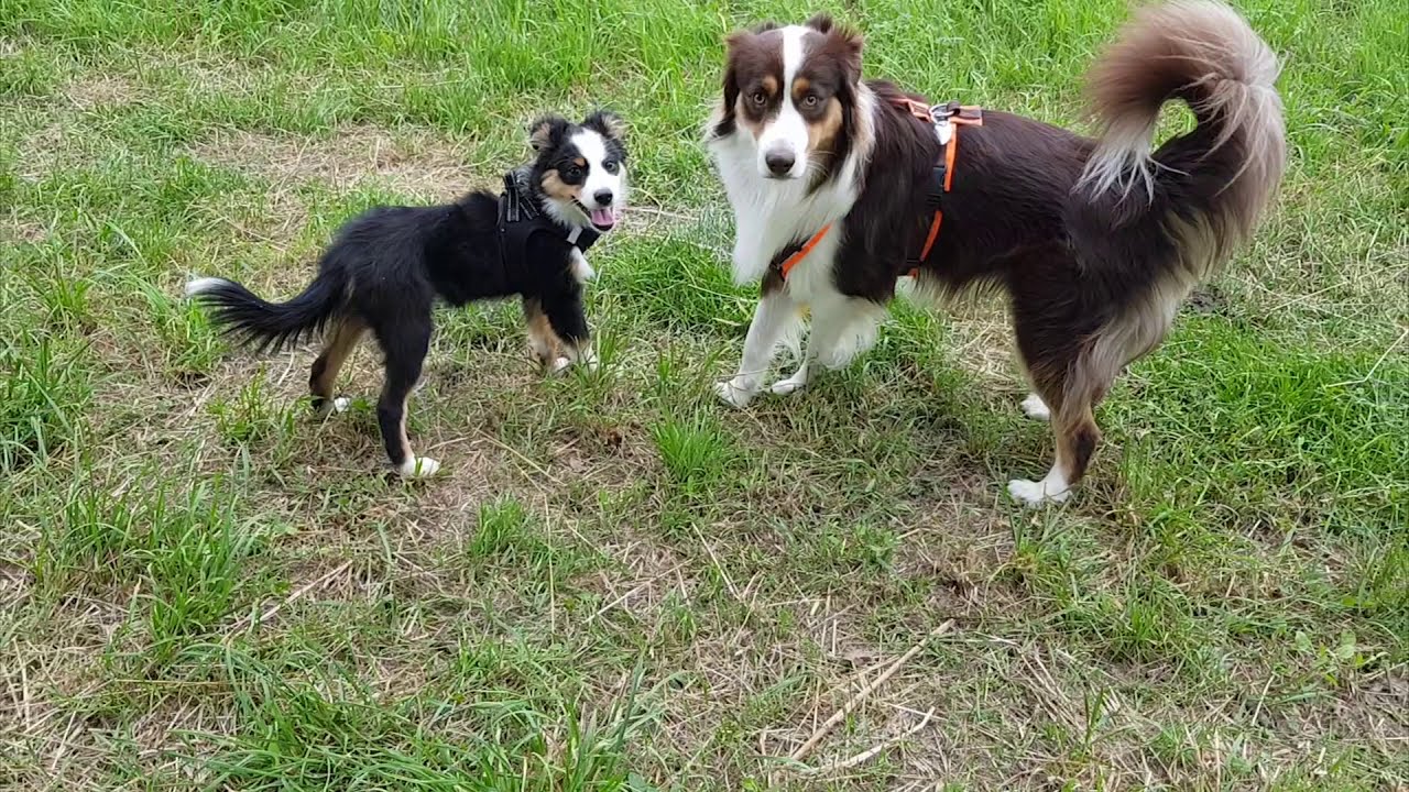
[[[851,124],[861,48],[859,34],[821,14],[731,34],[714,135],[752,142],[758,172],[771,179],[824,166]]]

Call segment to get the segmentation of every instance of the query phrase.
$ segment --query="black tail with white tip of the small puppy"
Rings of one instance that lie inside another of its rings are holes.
[[[341,278],[321,272],[303,293],[286,303],[271,303],[224,278],[196,278],[186,296],[213,309],[211,318],[240,345],[258,352],[278,352],[304,335],[321,333],[345,303]]]

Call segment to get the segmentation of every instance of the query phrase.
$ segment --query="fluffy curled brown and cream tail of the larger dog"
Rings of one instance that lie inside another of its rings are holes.
[[[1150,204],[1192,199],[1213,234],[1206,268],[1251,235],[1286,159],[1277,58],[1234,10],[1174,0],[1140,10],[1088,75],[1100,135],[1081,187],[1122,199],[1140,187]],[[1198,127],[1151,154],[1160,109],[1184,100]],[[1161,189],[1164,187],[1164,189]],[[1158,210],[1160,207],[1155,207]],[[1178,206],[1165,210],[1179,213]],[[1192,264],[1192,262],[1189,262]]]

